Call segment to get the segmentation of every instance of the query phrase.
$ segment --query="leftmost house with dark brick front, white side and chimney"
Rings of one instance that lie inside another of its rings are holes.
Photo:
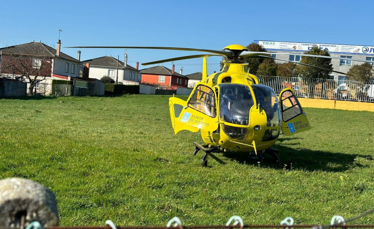
[[[12,79],[23,79],[29,83],[28,91],[49,91],[53,79],[69,80],[70,77],[82,77],[83,65],[79,59],[63,52],[61,41],[57,40],[57,48],[47,46],[42,42],[30,42],[21,45],[0,48],[1,73]],[[35,76],[38,76],[35,79]],[[33,90],[34,90],[33,89]]]

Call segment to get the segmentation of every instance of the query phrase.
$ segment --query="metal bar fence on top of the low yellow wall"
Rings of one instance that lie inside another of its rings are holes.
[[[290,87],[297,97],[374,102],[374,83],[370,82],[277,76],[259,77],[259,80],[277,94]]]

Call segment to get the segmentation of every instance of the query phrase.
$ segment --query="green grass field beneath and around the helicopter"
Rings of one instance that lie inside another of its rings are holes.
[[[233,215],[328,224],[374,207],[372,112],[305,108],[312,130],[275,145],[286,170],[223,152],[226,165],[201,167],[200,133],[173,134],[168,96],[0,99],[0,108],[0,178],[49,187],[61,226],[163,226],[174,216],[222,225]]]

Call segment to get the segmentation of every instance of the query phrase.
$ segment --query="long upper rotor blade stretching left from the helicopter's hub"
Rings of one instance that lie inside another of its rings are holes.
[[[69,46],[74,48],[139,48],[139,49],[165,49],[165,50],[182,50],[182,51],[204,51],[221,56],[227,56],[232,58],[233,51],[230,50],[213,50],[213,49],[201,49],[201,48],[188,48],[188,47],[155,47],[155,46]]]

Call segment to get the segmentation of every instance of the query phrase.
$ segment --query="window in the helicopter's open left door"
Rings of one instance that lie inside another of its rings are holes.
[[[215,105],[215,96],[214,92],[204,86],[199,85],[187,105],[192,109],[200,111],[212,118],[216,116],[216,105]]]

